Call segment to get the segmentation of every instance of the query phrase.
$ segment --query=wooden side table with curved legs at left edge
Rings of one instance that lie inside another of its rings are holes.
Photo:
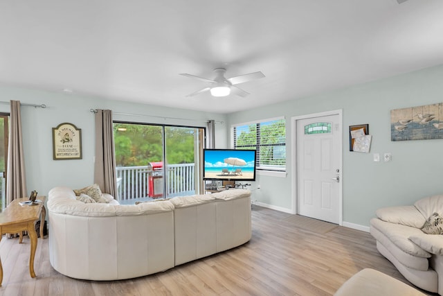
[[[30,238],[29,273],[30,277],[35,277],[34,256],[37,250],[37,232],[35,232],[35,221],[42,219],[40,223],[40,237],[43,236],[44,220],[46,218],[46,208],[44,207],[44,196],[37,197],[42,200],[39,204],[21,205],[28,198],[18,198],[13,200],[6,209],[0,213],[0,241],[3,234],[20,234],[20,241],[23,240],[22,232],[27,231]],[[3,266],[0,259],[0,286],[3,281]]]

